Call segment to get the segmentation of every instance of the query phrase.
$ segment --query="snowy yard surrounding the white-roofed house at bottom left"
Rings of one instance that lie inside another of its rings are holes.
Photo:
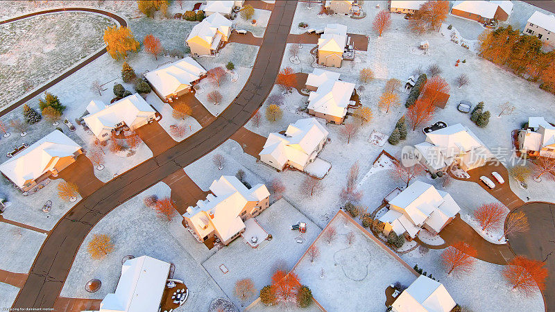
[[[100,220],[83,241],[60,295],[103,299],[117,286],[121,259],[131,254],[135,257],[148,255],[175,264],[173,277],[184,281],[190,292],[187,302],[176,311],[206,311],[214,298],[225,296],[204,268],[169,233],[167,221],[161,220],[154,210],[143,204],[146,196],[156,194],[163,198],[169,196],[170,191],[166,184],[159,182]],[[171,223],[180,224],[181,220],[176,214]],[[182,230],[185,232],[185,228]],[[94,234],[108,234],[115,244],[114,251],[104,259],[93,260],[87,252],[87,243]],[[102,288],[96,293],[87,293],[85,284],[94,278],[102,281]]]

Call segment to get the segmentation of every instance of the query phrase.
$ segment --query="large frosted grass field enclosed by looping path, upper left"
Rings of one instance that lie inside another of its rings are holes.
[[[101,49],[108,17],[58,12],[0,26],[0,107]]]

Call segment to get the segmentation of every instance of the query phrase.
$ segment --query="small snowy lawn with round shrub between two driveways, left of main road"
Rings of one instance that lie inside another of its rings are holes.
[[[197,132],[198,130],[200,130],[200,128],[203,128],[200,123],[198,123],[198,121],[196,121],[196,119],[191,116],[187,116],[187,119],[185,120],[173,118],[173,108],[171,108],[171,105],[162,102],[162,100],[160,100],[160,98],[154,92],[151,92],[150,94],[148,94],[148,96],[146,96],[146,102],[150,103],[155,108],[155,110],[162,114],[162,119],[158,121],[158,123],[162,125],[162,128],[164,128],[164,130],[168,132],[172,139],[178,142],[187,139],[187,137],[191,136],[194,132]],[[176,135],[173,135],[170,130],[171,125],[182,125],[183,127],[185,127],[185,135],[183,135],[182,137],[177,137]]]

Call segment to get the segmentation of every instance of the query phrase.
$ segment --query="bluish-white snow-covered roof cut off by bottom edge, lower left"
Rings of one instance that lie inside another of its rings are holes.
[[[142,256],[121,266],[116,291],[100,304],[103,311],[158,311],[168,278],[170,263]]]

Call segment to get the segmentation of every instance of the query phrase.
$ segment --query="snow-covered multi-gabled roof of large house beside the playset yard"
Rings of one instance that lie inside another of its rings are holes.
[[[212,194],[208,194],[206,200],[198,200],[196,207],[189,207],[183,216],[190,218],[201,234],[216,229],[224,241],[245,227],[240,214],[248,202],[259,202],[270,196],[264,184],[247,189],[231,175],[214,180],[210,191]]]

